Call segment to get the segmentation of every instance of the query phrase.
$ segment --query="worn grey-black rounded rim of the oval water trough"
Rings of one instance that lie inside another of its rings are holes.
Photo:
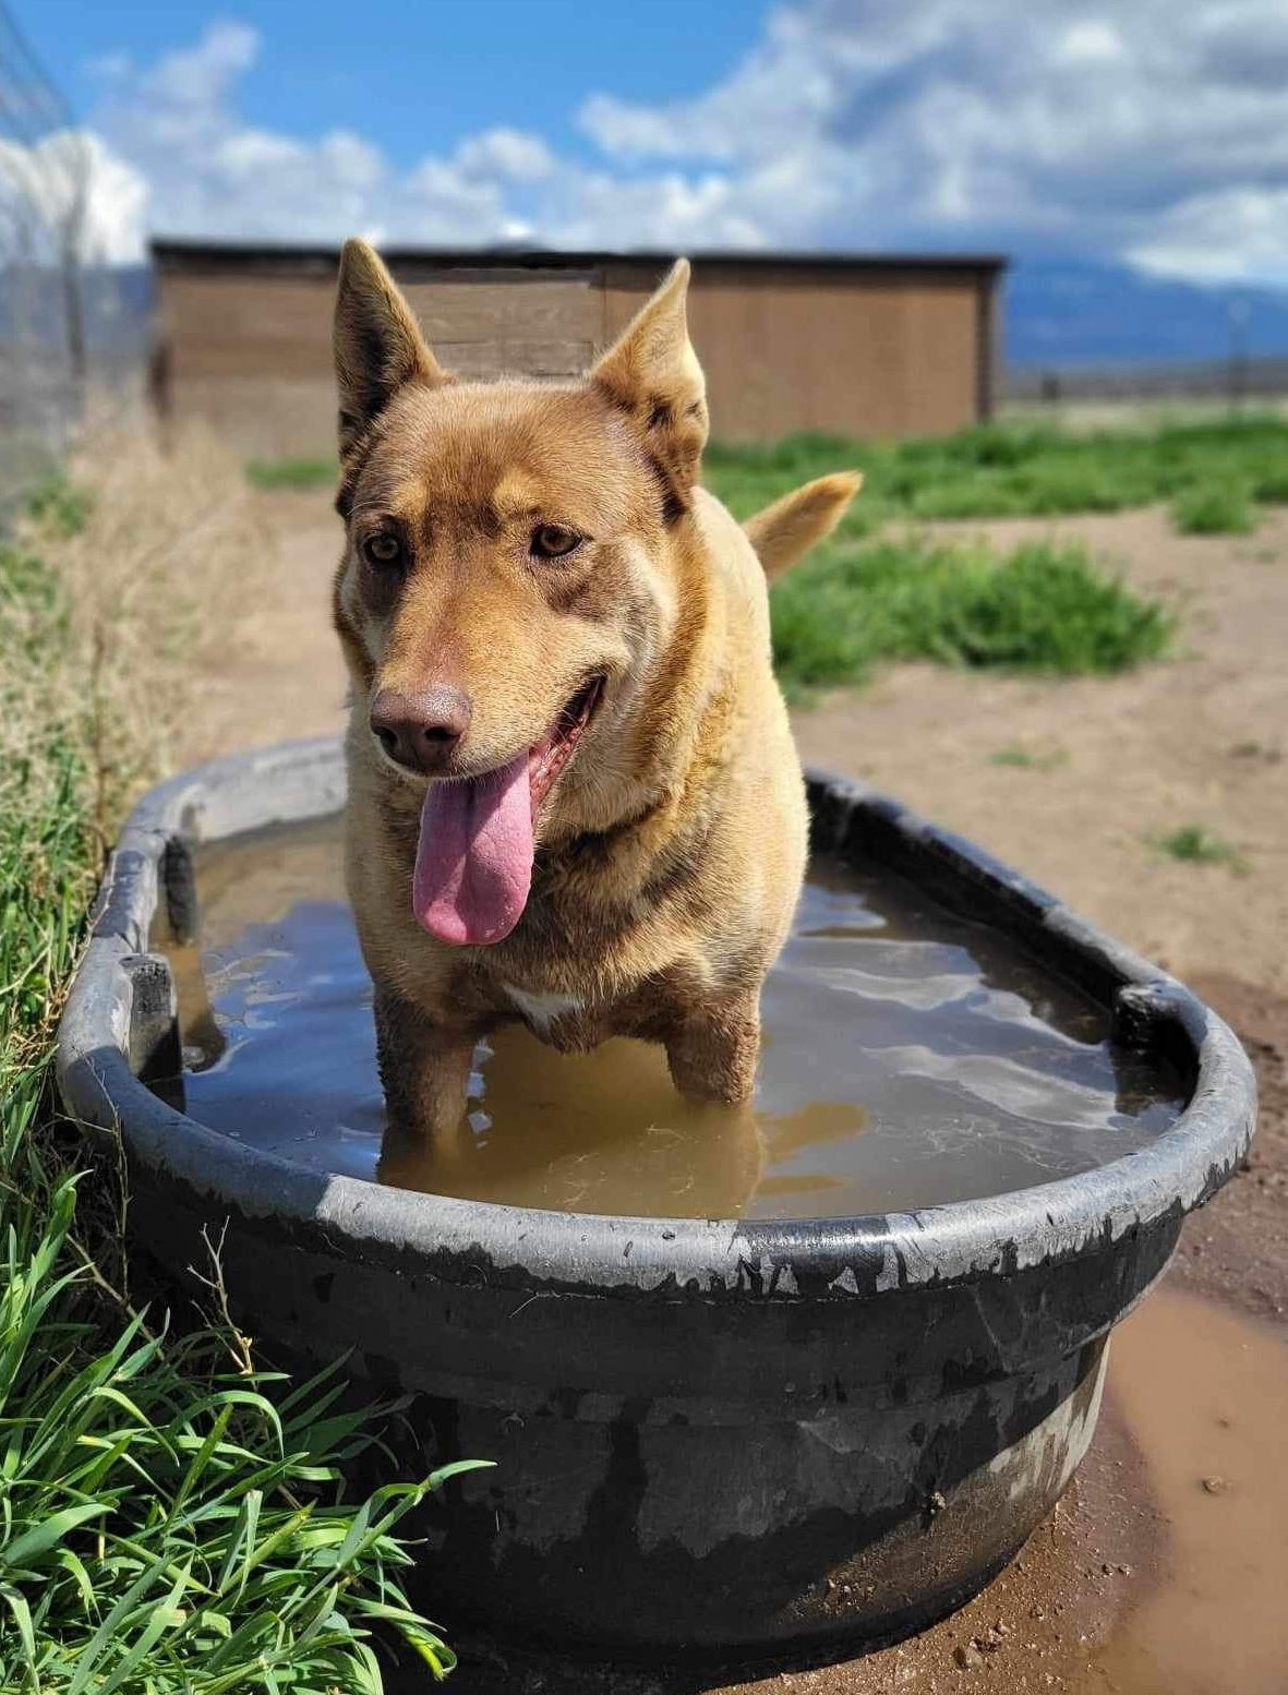
[[[130,1156],[210,1210],[341,1241],[364,1259],[444,1281],[583,1295],[663,1293],[710,1300],[869,1298],[893,1290],[973,1283],[1029,1266],[1107,1253],[1208,1200],[1247,1153],[1256,1124],[1251,1063],[1230,1027],[1166,971],[1107,937],[1063,902],[976,844],[849,778],[808,771],[825,810],[847,825],[859,810],[941,859],[952,876],[1002,895],[1029,925],[1076,948],[1125,990],[1137,1017],[1163,1020],[1195,1054],[1195,1090],[1147,1148],[1076,1176],[1007,1195],[912,1212],[839,1219],[641,1219],[458,1200],[319,1173],[230,1141],[161,1102],[127,1061],[132,980],[147,951],[163,856],[202,803],[258,783],[259,825],[334,815],[344,797],[339,736],[278,742],[193,768],[146,793],[110,856],[92,937],[59,1024],[58,1078],[73,1117],[119,1131]],[[291,793],[283,798],[283,780]],[[241,832],[236,832],[241,834]],[[197,837],[202,842],[227,836]],[[320,1192],[319,1192],[320,1190]]]

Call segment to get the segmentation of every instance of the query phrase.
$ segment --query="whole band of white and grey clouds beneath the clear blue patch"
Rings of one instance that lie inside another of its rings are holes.
[[[691,100],[585,102],[590,163],[490,129],[410,170],[246,122],[212,25],[100,63],[92,222],[276,241],[1002,246],[1288,281],[1283,0],[795,0]]]

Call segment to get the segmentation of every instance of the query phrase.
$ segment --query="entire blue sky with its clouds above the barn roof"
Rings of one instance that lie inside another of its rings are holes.
[[[356,232],[1288,285],[1285,0],[17,5],[110,259]]]

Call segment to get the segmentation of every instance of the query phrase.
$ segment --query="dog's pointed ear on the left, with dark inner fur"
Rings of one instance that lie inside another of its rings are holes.
[[[336,386],[341,454],[380,417],[403,383],[449,383],[429,351],[412,308],[376,251],[346,241],[336,285]]]

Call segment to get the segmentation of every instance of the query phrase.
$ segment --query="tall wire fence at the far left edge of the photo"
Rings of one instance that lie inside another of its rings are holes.
[[[0,0],[0,514],[58,466],[142,353],[88,241],[93,146]]]

